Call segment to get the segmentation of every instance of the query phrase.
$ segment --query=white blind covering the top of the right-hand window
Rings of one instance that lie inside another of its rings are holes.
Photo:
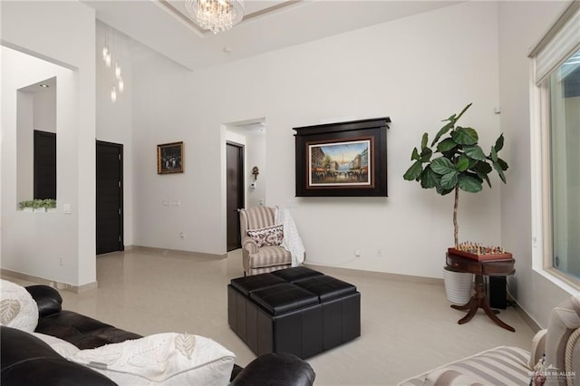
[[[554,27],[529,54],[535,58],[536,84],[580,49],[580,1],[574,1],[558,19]]]

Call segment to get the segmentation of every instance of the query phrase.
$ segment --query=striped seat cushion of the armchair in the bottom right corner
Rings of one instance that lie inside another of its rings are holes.
[[[500,346],[448,363],[400,385],[525,385],[531,375],[528,359],[526,350]]]

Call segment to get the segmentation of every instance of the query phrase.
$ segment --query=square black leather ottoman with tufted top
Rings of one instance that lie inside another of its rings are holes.
[[[361,334],[361,294],[306,267],[233,279],[227,286],[229,326],[257,355],[308,358]]]

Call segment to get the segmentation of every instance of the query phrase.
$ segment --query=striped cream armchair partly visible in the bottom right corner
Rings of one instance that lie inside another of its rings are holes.
[[[580,385],[580,294],[552,310],[531,352],[499,346],[425,372],[399,386]]]

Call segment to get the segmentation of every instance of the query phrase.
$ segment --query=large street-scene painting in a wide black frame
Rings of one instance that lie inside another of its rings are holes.
[[[389,117],[295,128],[297,197],[386,197]]]

